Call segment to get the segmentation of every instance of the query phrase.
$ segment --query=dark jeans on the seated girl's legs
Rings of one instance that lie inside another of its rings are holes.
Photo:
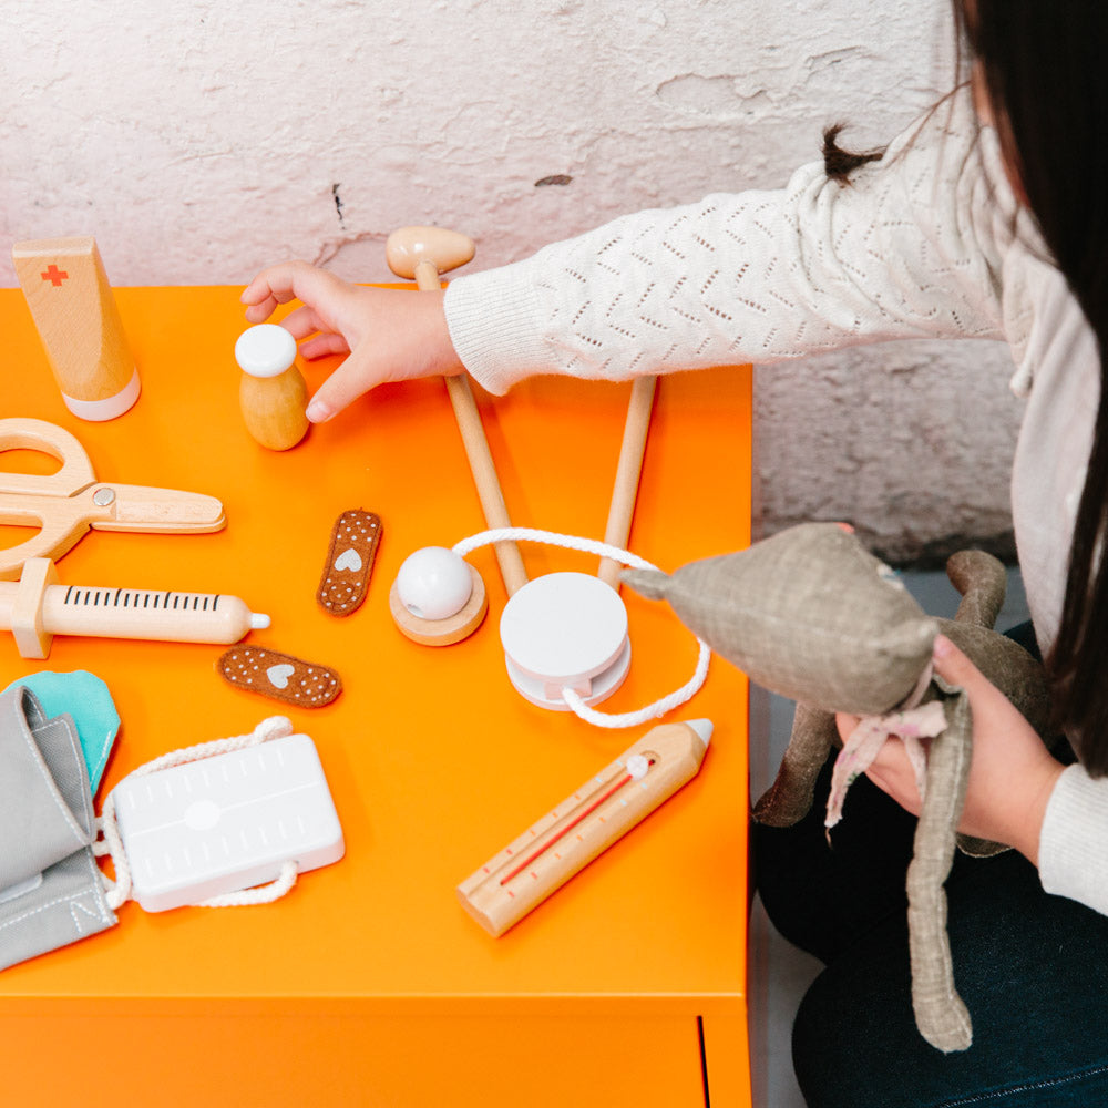
[[[915,818],[866,778],[828,845],[830,762],[809,815],[752,825],[778,930],[820,958],[793,1027],[810,1108],[1108,1106],[1108,917],[1043,892],[1016,851],[958,853],[946,882],[968,1050],[942,1054],[912,1014],[904,876]]]

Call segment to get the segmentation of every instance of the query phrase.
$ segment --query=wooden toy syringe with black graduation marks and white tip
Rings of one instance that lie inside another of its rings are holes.
[[[268,626],[237,596],[62,585],[48,557],[28,558],[18,582],[0,581],[0,629],[24,658],[49,657],[54,635],[237,643]]]

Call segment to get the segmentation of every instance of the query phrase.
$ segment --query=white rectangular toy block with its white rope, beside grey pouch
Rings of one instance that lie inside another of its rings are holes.
[[[284,716],[129,773],[101,823],[109,902],[133,896],[147,912],[268,903],[345,852],[315,743]]]

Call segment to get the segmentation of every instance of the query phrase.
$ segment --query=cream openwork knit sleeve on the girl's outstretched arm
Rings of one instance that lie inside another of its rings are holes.
[[[1003,338],[1007,224],[955,95],[884,157],[829,179],[624,216],[459,277],[447,319],[493,392],[534,373],[623,380],[913,337]]]

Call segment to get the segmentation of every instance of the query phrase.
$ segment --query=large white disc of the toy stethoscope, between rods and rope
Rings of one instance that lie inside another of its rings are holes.
[[[630,666],[627,609],[619,594],[584,573],[548,573],[527,582],[500,620],[507,675],[532,704],[568,711],[563,689],[599,704]]]

